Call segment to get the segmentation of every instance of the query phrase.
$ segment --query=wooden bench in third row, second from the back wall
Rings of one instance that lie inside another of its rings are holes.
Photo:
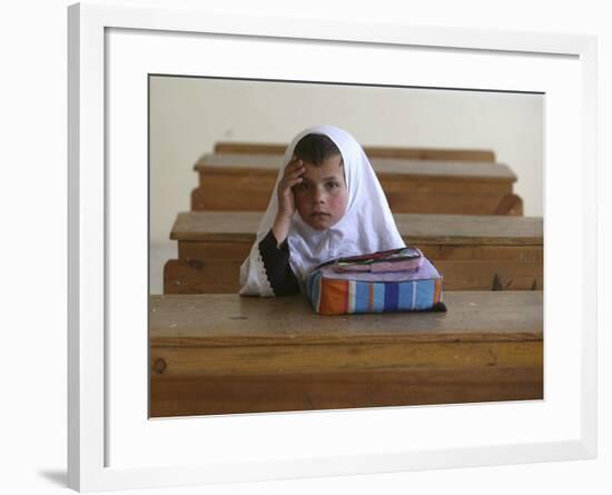
[[[283,160],[278,155],[205,155],[195,165],[199,186],[191,210],[264,211]],[[373,158],[394,212],[522,215],[515,174],[484,161]]]

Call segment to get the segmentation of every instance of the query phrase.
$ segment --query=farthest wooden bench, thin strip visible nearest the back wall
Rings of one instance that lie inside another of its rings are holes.
[[[246,155],[284,155],[287,145],[269,142],[229,142],[215,145],[215,154]],[[452,148],[405,148],[389,146],[364,146],[369,158],[409,158],[413,160],[452,160],[452,161],[495,161],[495,154],[488,149],[452,149]]]

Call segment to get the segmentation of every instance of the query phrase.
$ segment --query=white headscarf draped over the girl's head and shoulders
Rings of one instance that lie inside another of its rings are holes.
[[[278,211],[277,188],[285,167],[290,161],[296,145],[309,133],[327,136],[340,150],[348,202],[344,217],[326,230],[316,230],[308,226],[297,210],[292,217],[287,237],[289,264],[300,287],[304,289],[304,280],[314,267],[329,259],[405,247],[383,188],[363,148],[343,129],[316,126],[299,132],[285,151],[268,209],[257,229],[250,255],[240,267],[240,295],[274,296],[258,245],[274,225]]]

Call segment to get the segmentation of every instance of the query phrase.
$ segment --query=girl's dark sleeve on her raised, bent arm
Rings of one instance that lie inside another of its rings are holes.
[[[299,285],[289,265],[287,240],[277,247],[276,237],[270,229],[259,242],[259,254],[274,294],[276,296],[298,294]]]

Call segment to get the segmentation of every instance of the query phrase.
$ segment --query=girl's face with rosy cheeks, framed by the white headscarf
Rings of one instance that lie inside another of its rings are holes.
[[[316,230],[337,224],[346,211],[348,192],[340,161],[340,155],[327,158],[318,167],[305,161],[303,181],[294,186],[297,212]]]

